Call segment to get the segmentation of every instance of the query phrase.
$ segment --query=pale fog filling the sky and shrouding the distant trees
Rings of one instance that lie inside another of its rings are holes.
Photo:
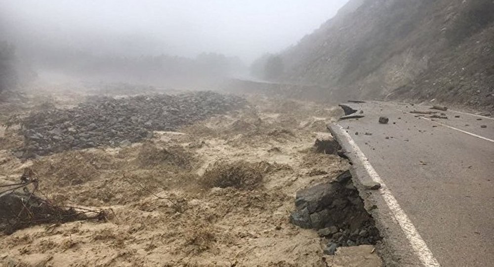
[[[317,29],[346,1],[0,0],[0,40],[37,71],[151,83],[238,75]]]

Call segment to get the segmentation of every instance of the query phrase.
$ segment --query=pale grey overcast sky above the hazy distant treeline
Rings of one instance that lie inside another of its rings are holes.
[[[36,42],[94,53],[201,52],[247,63],[296,43],[347,0],[0,0],[13,42]],[[0,21],[1,22],[1,21]],[[21,37],[12,37],[12,34]],[[3,37],[1,37],[3,36]]]

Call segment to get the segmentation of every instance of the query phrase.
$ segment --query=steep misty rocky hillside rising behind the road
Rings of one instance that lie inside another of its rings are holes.
[[[279,79],[492,111],[493,14],[492,0],[350,0],[281,53]]]

